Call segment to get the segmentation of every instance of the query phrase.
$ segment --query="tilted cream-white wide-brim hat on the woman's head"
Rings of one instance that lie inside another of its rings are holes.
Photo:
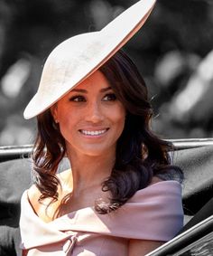
[[[155,1],[141,0],[102,30],[60,43],[44,64],[39,89],[24,110],[24,119],[49,109],[112,57],[143,26]]]

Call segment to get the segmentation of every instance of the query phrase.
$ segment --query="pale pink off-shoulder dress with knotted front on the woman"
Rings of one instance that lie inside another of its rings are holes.
[[[22,197],[21,246],[28,256],[125,256],[129,239],[166,242],[182,225],[181,185],[176,181],[137,191],[114,213],[98,214],[87,207],[50,223],[34,213],[27,191]]]

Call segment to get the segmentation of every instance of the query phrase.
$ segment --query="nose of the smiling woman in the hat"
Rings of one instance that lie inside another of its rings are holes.
[[[101,103],[92,101],[88,104],[86,120],[93,123],[101,122],[104,119]]]

